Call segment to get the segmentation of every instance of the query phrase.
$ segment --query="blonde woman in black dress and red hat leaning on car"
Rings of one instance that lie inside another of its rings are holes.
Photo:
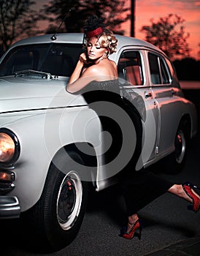
[[[118,93],[118,97],[115,97],[114,103],[126,109],[123,104],[123,99],[121,99],[118,92],[117,65],[114,61],[109,60],[109,54],[114,53],[117,47],[115,35],[112,31],[106,29],[106,25],[96,15],[88,18],[85,22],[84,29],[86,53],[80,55],[77,66],[66,86],[66,91],[72,94],[80,93],[86,95],[86,99],[90,102],[101,100],[113,102],[111,97],[108,97],[108,95],[111,94],[99,93],[100,90],[112,91],[112,93]],[[91,94],[94,98],[91,99],[91,95],[87,98],[87,91],[94,90],[98,91],[96,94],[94,92]],[[98,113],[98,108],[95,110]],[[134,237],[134,234],[136,234],[136,230],[139,231],[139,238],[141,236],[142,225],[137,212],[147,206],[148,203],[155,200],[155,198],[163,195],[165,192],[170,192],[187,200],[191,203],[188,208],[197,212],[200,208],[200,197],[194,191],[197,187],[190,182],[185,182],[185,184],[172,184],[164,178],[156,176],[150,171],[146,171],[144,167],[141,167],[140,170],[136,170],[136,163],[142,151],[142,121],[136,113],[130,113],[128,110],[127,113],[136,129],[136,146],[133,156],[129,162],[127,162],[123,170],[120,171],[118,178],[126,203],[128,219],[127,225],[120,230],[120,236],[131,239]],[[100,118],[100,120],[102,119]],[[103,123],[105,122],[103,121]],[[105,129],[107,129],[107,127]],[[115,133],[115,129],[112,127],[109,132]],[[131,148],[131,145],[128,145],[128,143],[126,146]]]

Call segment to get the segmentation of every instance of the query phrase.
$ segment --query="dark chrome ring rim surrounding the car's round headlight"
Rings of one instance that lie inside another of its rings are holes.
[[[9,138],[12,140],[14,145],[14,151],[12,156],[5,161],[1,161],[0,159],[0,166],[9,167],[14,165],[20,156],[20,143],[19,143],[18,137],[10,129],[0,128],[0,135],[1,134],[9,136]],[[1,146],[1,142],[0,142],[0,146]]]

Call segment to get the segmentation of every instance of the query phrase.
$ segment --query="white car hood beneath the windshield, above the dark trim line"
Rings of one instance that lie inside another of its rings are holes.
[[[66,80],[0,78],[0,113],[85,105],[81,95],[66,91]]]

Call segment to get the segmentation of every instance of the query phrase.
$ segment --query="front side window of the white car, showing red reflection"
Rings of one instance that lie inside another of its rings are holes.
[[[139,51],[124,51],[118,62],[118,76],[127,80],[131,86],[144,84],[142,61]]]

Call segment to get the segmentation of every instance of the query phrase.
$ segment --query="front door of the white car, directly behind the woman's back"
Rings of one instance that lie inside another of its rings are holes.
[[[118,61],[118,75],[121,94],[134,101],[136,109],[142,113],[145,105],[143,120],[142,160],[144,165],[154,161],[158,146],[158,110],[156,109],[153,91],[149,86],[147,76],[147,61],[143,50],[123,50]],[[139,94],[139,100],[135,97]]]

